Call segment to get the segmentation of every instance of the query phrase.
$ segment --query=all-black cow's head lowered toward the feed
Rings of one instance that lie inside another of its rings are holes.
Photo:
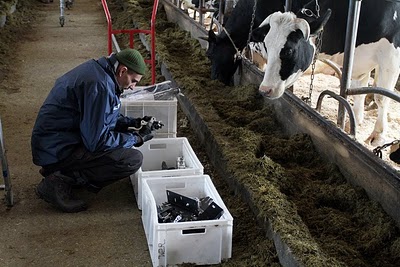
[[[211,79],[219,80],[225,85],[233,84],[233,75],[240,65],[240,59],[235,59],[236,49],[230,38],[221,32],[216,35],[208,31],[207,57],[211,61]]]

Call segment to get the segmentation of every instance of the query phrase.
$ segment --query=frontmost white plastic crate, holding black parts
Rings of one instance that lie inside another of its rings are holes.
[[[157,205],[167,202],[167,189],[192,198],[209,196],[224,213],[217,220],[159,223]],[[231,257],[233,218],[208,175],[146,179],[142,222],[153,266],[218,264]]]

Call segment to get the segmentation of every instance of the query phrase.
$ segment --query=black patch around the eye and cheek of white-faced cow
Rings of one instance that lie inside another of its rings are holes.
[[[314,47],[304,38],[300,30],[291,32],[279,57],[281,69],[279,75],[284,81],[299,70],[305,71],[311,64]]]

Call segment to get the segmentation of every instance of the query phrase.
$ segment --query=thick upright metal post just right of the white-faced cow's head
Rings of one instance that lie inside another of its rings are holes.
[[[360,17],[362,0],[350,0],[349,14],[347,16],[346,43],[344,47],[343,72],[340,80],[340,95],[346,99],[346,90],[351,84],[351,73],[353,71],[354,51],[358,31],[358,20]],[[344,107],[339,103],[338,125],[344,129]]]

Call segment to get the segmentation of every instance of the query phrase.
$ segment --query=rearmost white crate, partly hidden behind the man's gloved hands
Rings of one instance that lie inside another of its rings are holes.
[[[177,128],[177,108],[176,98],[171,100],[134,100],[121,98],[121,114],[133,118],[153,116],[161,121],[164,126],[156,130],[155,138],[176,137]]]

